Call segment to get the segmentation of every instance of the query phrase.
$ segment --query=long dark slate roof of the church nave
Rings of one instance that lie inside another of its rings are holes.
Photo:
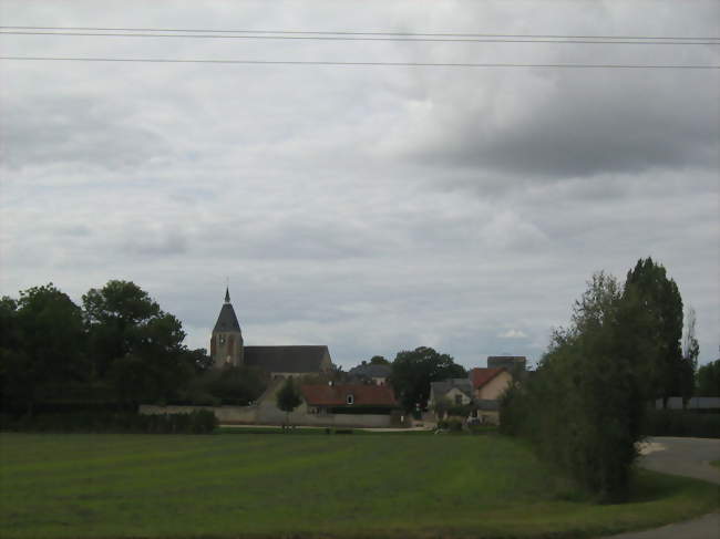
[[[320,372],[328,346],[245,346],[244,363],[276,373]]]

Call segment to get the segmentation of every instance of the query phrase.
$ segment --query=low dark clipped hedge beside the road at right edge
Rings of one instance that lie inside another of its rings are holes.
[[[720,438],[720,414],[685,410],[649,410],[642,433],[646,436],[690,436]]]

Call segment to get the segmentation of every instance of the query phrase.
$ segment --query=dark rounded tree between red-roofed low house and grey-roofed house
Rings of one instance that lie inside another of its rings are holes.
[[[446,379],[466,377],[467,373],[448,354],[420,346],[398,352],[392,362],[390,383],[405,411],[425,407],[430,398],[430,383]]]

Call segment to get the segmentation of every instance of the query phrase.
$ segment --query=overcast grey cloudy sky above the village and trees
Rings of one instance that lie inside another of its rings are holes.
[[[0,1],[6,27],[720,35],[716,1]],[[295,34],[307,35],[307,34]],[[4,56],[719,65],[718,45],[0,35]],[[0,60],[0,292],[135,281],[207,346],[536,361],[593,272],[720,328],[718,70]]]

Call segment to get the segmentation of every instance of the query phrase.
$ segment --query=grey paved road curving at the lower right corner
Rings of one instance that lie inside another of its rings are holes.
[[[645,468],[720,485],[720,470],[708,464],[720,458],[720,439],[657,437],[650,442],[648,454],[640,458]],[[720,512],[607,539],[720,539]]]

